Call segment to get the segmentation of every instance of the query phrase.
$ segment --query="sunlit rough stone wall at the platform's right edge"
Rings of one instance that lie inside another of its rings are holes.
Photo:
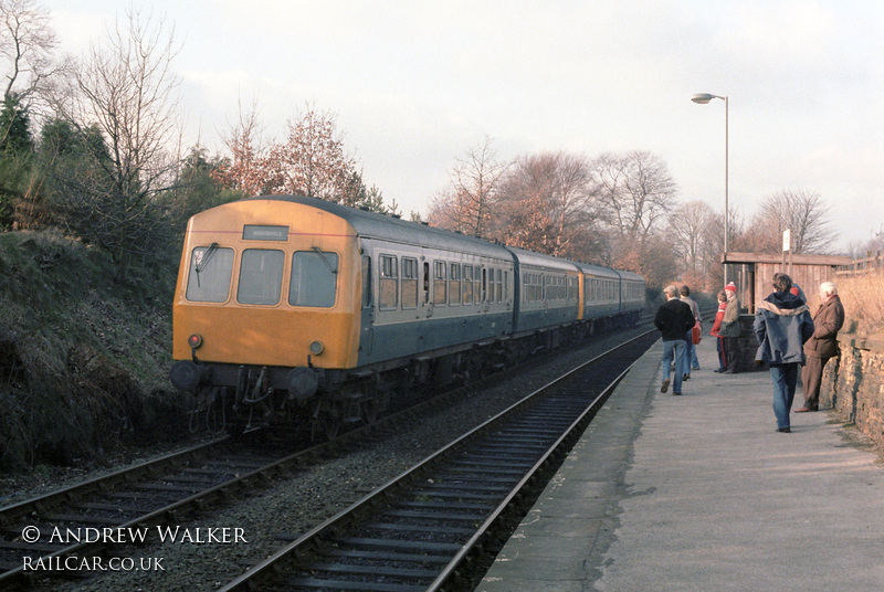
[[[884,341],[839,336],[841,356],[825,364],[820,406],[884,445]]]

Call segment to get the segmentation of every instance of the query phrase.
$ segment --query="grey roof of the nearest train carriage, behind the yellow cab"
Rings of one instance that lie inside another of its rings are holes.
[[[392,215],[379,214],[367,210],[359,210],[339,203],[334,203],[319,198],[303,195],[260,195],[242,201],[270,200],[299,203],[323,210],[344,219],[350,224],[358,236],[369,239],[383,239],[403,244],[420,244],[424,246],[445,249],[451,251],[469,252],[476,255],[511,260],[512,256],[498,244],[466,236],[425,223],[411,222]]]

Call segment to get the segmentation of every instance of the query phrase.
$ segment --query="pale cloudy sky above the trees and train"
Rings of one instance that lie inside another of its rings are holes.
[[[126,20],[119,1],[42,6],[74,56]],[[223,154],[252,105],[263,139],[282,139],[313,105],[335,115],[365,183],[406,214],[425,216],[455,160],[490,138],[504,161],[646,150],[682,201],[724,212],[727,184],[745,219],[771,194],[815,192],[839,252],[884,232],[880,0],[138,6],[175,28],[188,146]]]

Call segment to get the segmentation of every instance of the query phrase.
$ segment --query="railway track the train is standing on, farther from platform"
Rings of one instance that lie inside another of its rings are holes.
[[[375,424],[341,434],[333,442],[299,450],[261,446],[261,432],[245,442],[229,438],[194,446],[73,487],[0,508],[0,589],[23,588],[64,570],[27,570],[65,558],[113,556],[120,547],[156,540],[120,540],[119,532],[146,532],[204,517],[272,485],[276,476],[299,471],[364,446],[434,408],[445,408],[483,382],[455,389]],[[501,445],[499,454],[506,454]],[[488,480],[498,482],[499,478]],[[122,529],[122,530],[120,530]],[[152,529],[152,530],[151,530]],[[110,536],[107,532],[110,531]],[[116,533],[116,535],[115,535]],[[122,537],[126,539],[124,535]],[[131,537],[129,537],[131,538]],[[95,574],[95,573],[93,573]],[[67,574],[71,575],[71,574]],[[82,577],[82,574],[80,574]]]

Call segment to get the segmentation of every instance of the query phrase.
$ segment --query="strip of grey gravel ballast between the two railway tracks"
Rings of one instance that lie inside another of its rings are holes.
[[[630,332],[640,331],[633,329]],[[348,452],[292,478],[278,479],[249,500],[215,510],[211,517],[176,525],[179,527],[179,540],[186,529],[191,539],[198,535],[209,539],[208,529],[215,528],[219,529],[213,531],[217,539],[227,535],[231,542],[160,542],[155,527],[148,530],[148,541],[154,541],[154,545],[116,549],[119,558],[116,571],[103,571],[102,577],[85,581],[44,579],[38,582],[35,590],[217,590],[250,564],[287,545],[294,537],[334,516],[469,429],[619,339],[621,337],[596,337],[590,345],[565,352],[540,364],[540,368],[517,370],[507,380],[482,392],[474,392],[446,410],[415,420],[410,429],[369,444],[365,450]],[[41,487],[48,486],[41,484]],[[278,535],[284,537],[280,538]],[[238,537],[239,542],[233,542]],[[105,562],[105,565],[110,563]],[[77,570],[77,575],[86,573],[87,570]]]

